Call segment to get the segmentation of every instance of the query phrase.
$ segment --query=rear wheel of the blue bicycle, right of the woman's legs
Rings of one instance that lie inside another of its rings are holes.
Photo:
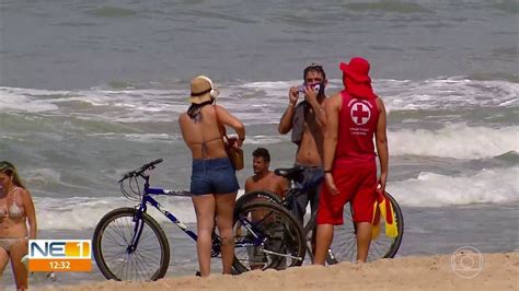
[[[234,261],[238,272],[285,269],[304,260],[305,241],[299,222],[284,207],[265,201],[244,205],[234,213]]]

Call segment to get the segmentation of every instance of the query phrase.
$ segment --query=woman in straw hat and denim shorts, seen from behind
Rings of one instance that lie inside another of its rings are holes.
[[[217,95],[210,79],[196,77],[191,82],[191,106],[178,118],[182,137],[193,154],[191,194],[198,229],[196,248],[201,277],[210,273],[215,221],[221,237],[222,272],[231,273],[234,258],[232,213],[240,186],[222,141],[224,126],[238,133],[234,147],[241,148],[245,140],[243,124],[223,107],[214,105]]]

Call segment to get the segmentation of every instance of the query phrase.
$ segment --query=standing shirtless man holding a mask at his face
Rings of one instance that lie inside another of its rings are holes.
[[[302,188],[304,194],[299,195],[292,205],[292,212],[301,223],[310,202],[312,213],[315,213],[319,202],[319,190],[324,178],[323,172],[323,140],[326,126],[324,106],[326,95],[324,88],[327,84],[326,73],[322,66],[311,65],[303,72],[305,88],[304,101],[298,105],[298,88],[289,89],[288,107],[279,121],[278,131],[281,135],[292,130],[292,142],[298,146],[296,165],[304,167]],[[314,86],[319,84],[316,91]]]

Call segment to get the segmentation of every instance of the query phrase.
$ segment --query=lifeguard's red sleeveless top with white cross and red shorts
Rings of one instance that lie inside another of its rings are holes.
[[[341,92],[343,105],[338,120],[338,140],[332,176],[339,191],[332,195],[323,185],[318,209],[318,224],[344,223],[346,202],[353,206],[354,222],[371,222],[377,190],[377,163],[373,135],[379,120],[374,94],[367,97]]]

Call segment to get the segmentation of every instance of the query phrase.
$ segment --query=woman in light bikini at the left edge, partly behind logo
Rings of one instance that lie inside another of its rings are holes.
[[[0,275],[11,259],[18,290],[27,289],[27,268],[21,259],[27,254],[27,241],[34,238],[36,213],[33,198],[20,181],[14,165],[0,162]]]

